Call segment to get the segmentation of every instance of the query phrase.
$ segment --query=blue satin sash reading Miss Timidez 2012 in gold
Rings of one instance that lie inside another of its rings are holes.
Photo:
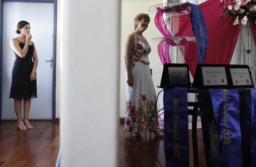
[[[166,167],[189,167],[187,88],[164,89]]]

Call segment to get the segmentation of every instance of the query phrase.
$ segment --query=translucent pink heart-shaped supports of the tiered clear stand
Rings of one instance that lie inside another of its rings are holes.
[[[171,25],[175,25],[174,22],[178,21],[178,26],[170,26],[170,30],[168,30],[165,18],[163,17],[164,13],[170,13],[174,12],[175,15],[172,16],[170,20],[167,20],[167,22],[170,22]],[[164,37],[167,37],[166,39],[163,39],[158,44],[158,54],[161,60],[161,63],[164,65],[165,63],[171,63],[170,60],[170,52],[169,47],[170,46],[185,46],[185,55],[184,60],[186,60],[191,56],[191,53],[194,53],[195,47],[192,47],[191,45],[195,45],[194,41],[191,40],[177,40],[172,39],[168,37],[174,37],[174,36],[180,36],[184,30],[188,27],[189,23],[188,20],[190,19],[190,4],[183,3],[180,6],[176,7],[164,7],[164,8],[158,8],[157,14],[155,16],[155,25],[157,26],[158,30],[163,34]],[[171,33],[170,33],[171,32]],[[190,51],[190,52],[188,52]],[[193,55],[193,54],[192,54]]]

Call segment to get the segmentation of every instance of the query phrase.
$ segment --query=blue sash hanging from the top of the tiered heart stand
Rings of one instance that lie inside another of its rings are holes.
[[[190,3],[190,6],[192,30],[196,37],[196,43],[198,47],[198,64],[203,64],[205,61],[205,55],[208,45],[208,31],[205,24],[205,18],[203,17],[202,9],[192,3]]]

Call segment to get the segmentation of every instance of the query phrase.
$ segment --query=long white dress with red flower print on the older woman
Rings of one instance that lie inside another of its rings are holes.
[[[126,84],[124,131],[145,132],[152,116],[148,130],[158,130],[156,93],[148,60],[151,47],[148,42],[144,43],[134,34],[131,35],[134,37],[134,47],[131,55],[133,87]]]

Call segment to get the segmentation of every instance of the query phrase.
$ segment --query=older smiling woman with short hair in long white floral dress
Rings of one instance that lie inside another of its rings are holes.
[[[151,47],[142,35],[149,22],[148,14],[138,14],[134,18],[134,32],[125,42],[127,85],[124,131],[131,132],[134,137],[145,132],[147,126],[157,137],[164,136],[159,130],[156,93],[149,68]]]

